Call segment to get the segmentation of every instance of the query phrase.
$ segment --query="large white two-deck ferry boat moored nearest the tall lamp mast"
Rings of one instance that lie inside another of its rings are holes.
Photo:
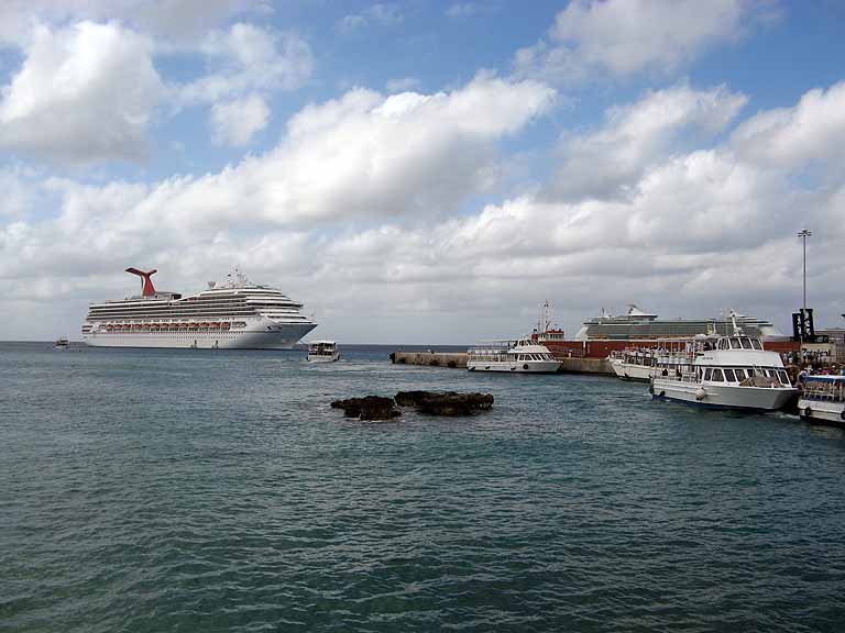
[[[655,398],[758,411],[781,409],[798,393],[780,355],[738,333],[698,337],[688,363],[660,369],[649,391]]]

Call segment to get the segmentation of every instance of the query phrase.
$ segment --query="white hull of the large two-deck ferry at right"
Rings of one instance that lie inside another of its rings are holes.
[[[721,409],[777,411],[798,392],[789,387],[740,387],[738,385],[702,385],[666,378],[651,380],[655,398],[667,398],[690,404]],[[703,391],[703,395],[702,395]]]

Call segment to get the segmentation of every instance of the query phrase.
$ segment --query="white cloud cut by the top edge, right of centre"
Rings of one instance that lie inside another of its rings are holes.
[[[669,74],[720,42],[736,38],[754,0],[572,0],[548,37],[516,55],[524,76],[571,84],[597,74]]]

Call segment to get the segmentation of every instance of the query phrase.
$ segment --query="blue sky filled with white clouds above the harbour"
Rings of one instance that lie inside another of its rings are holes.
[[[239,266],[314,336],[845,326],[837,0],[3,0],[0,318]]]

